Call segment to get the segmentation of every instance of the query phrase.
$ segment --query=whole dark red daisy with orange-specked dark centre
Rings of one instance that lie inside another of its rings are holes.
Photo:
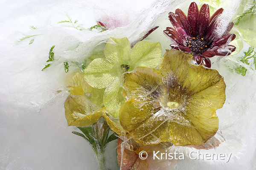
[[[234,23],[230,23],[224,34],[217,34],[217,28],[221,22],[219,16],[223,9],[218,9],[210,17],[209,6],[204,4],[200,11],[195,2],[189,6],[188,16],[180,9],[176,9],[175,14],[169,13],[171,27],[164,30],[164,34],[173,42],[171,48],[193,54],[193,59],[198,65],[211,67],[210,57],[228,56],[236,47],[228,45],[236,38],[235,34],[230,34]]]

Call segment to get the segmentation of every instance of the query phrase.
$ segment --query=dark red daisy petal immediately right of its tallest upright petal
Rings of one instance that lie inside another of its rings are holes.
[[[200,38],[204,38],[208,26],[210,24],[210,11],[209,6],[204,4],[199,11],[198,20],[197,20],[197,27],[198,27],[198,36]]]

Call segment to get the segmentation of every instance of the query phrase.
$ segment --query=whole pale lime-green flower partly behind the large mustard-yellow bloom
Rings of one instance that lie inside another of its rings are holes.
[[[94,59],[83,71],[83,77],[93,88],[106,88],[103,103],[107,111],[120,107],[125,98],[123,93],[123,74],[139,66],[154,68],[161,58],[162,50],[159,42],[140,41],[131,48],[125,37],[110,38],[105,47],[106,59]],[[118,116],[118,111],[111,112]]]

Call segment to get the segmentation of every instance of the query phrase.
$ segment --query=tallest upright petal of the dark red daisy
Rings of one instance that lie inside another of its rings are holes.
[[[189,11],[188,11],[188,20],[191,26],[191,35],[192,37],[196,37],[198,34],[197,30],[197,19],[198,19],[198,6],[195,2],[191,3],[189,6]]]

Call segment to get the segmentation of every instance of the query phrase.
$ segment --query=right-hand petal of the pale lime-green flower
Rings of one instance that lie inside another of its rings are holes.
[[[156,67],[162,58],[162,48],[160,42],[140,41],[131,49],[131,59],[129,60],[131,70],[136,67]]]

